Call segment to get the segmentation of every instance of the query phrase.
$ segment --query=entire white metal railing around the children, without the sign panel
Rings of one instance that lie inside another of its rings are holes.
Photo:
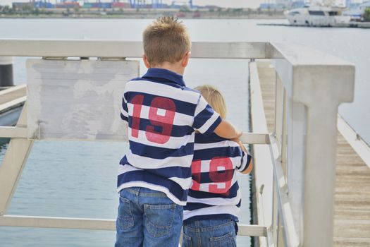
[[[142,53],[142,42],[0,40],[0,56],[114,60]],[[261,167],[262,160],[271,166],[255,171],[259,225],[240,225],[240,233],[261,236],[261,245],[332,246],[335,127],[338,105],[353,100],[354,66],[307,47],[269,42],[193,42],[192,58],[274,59],[281,79],[276,84],[274,133],[262,127],[242,135],[244,143],[265,144],[254,150],[267,153],[270,161],[255,157]],[[252,83],[251,91],[258,98]],[[261,118],[258,105],[251,107],[253,118]],[[26,135],[26,110],[16,127],[0,127],[0,135],[12,138],[0,168],[0,225],[114,229],[113,220],[6,215],[33,143]]]

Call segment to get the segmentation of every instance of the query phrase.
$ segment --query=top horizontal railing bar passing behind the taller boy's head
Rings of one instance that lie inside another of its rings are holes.
[[[141,41],[0,39],[0,56],[141,57]],[[192,42],[192,58],[286,59],[292,66],[353,66],[335,56],[290,43]]]

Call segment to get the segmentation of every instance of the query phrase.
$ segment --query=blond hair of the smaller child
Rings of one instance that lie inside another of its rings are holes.
[[[204,99],[206,99],[206,102],[208,102],[209,105],[220,114],[222,119],[226,118],[226,103],[223,99],[223,96],[218,89],[212,85],[202,85],[195,90],[198,90],[202,93]]]

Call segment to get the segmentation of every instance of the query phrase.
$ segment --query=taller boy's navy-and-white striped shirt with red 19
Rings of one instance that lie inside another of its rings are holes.
[[[149,68],[125,85],[121,118],[128,121],[130,150],[119,165],[118,192],[145,187],[185,205],[195,130],[210,135],[221,117],[200,92],[185,86],[183,76]]]

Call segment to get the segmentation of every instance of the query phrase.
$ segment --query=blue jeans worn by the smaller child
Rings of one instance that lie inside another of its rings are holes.
[[[236,222],[233,219],[196,220],[183,228],[183,247],[236,246]]]

